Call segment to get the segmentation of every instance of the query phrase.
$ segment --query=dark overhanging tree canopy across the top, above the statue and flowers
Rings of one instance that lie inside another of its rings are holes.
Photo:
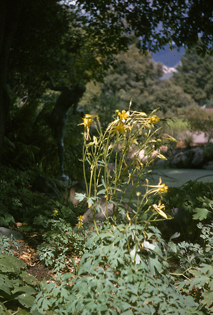
[[[64,83],[101,79],[129,34],[143,50],[170,42],[213,51],[213,2],[188,0],[0,1],[0,147],[12,93],[39,97],[44,76]],[[14,92],[15,89],[15,92]]]

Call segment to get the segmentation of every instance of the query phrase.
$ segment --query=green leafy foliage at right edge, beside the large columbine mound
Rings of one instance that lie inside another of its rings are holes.
[[[207,314],[213,314],[210,313],[213,312],[213,222],[206,225],[200,222],[197,227],[199,244],[169,242],[169,251],[179,262],[172,275],[179,280],[178,289],[182,288],[187,294],[194,290],[195,300],[206,307]]]

